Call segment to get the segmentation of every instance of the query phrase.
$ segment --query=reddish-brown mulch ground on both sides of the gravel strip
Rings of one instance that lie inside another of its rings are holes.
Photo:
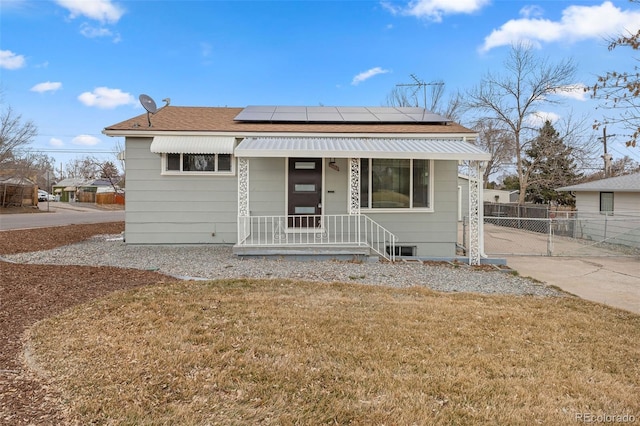
[[[2,231],[0,257],[48,250],[123,230],[124,223],[114,222]],[[58,395],[23,366],[22,337],[26,329],[41,319],[113,291],[173,280],[135,269],[23,265],[0,260],[0,424],[64,423]]]

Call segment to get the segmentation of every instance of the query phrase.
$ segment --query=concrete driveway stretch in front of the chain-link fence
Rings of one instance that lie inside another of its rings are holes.
[[[507,265],[593,302],[640,314],[640,258],[508,256]]]

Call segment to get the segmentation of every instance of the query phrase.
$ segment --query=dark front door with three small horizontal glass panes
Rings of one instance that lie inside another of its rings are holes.
[[[322,159],[289,158],[289,227],[320,226]]]

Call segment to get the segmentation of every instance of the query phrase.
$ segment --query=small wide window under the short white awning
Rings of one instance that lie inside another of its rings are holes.
[[[231,154],[163,154],[162,172],[232,174],[233,156]]]

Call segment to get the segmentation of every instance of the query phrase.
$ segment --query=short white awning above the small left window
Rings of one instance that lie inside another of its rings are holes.
[[[233,154],[233,136],[155,136],[151,152],[156,154]]]

